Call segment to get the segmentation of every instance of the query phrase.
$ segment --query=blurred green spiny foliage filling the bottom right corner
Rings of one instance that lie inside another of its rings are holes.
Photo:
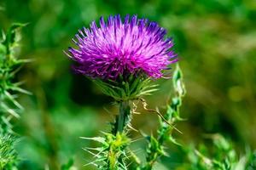
[[[245,170],[255,168],[255,154],[250,150],[246,155],[241,156],[235,147],[227,139],[219,134],[210,135],[212,146],[201,144],[196,150],[191,145],[187,150],[189,157],[189,166],[191,170]]]

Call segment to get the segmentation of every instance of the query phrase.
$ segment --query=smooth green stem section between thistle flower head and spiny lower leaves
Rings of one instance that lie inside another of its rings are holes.
[[[131,106],[129,101],[121,101],[119,104],[119,118],[117,122],[117,132],[123,133],[126,125],[130,122]]]

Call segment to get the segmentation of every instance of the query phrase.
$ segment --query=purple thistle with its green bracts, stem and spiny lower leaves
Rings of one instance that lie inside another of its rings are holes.
[[[109,16],[107,21],[101,18],[99,27],[93,21],[90,29],[79,30],[75,37],[77,48],[69,48],[66,53],[76,63],[74,70],[96,82],[119,105],[112,131],[104,137],[90,138],[102,144],[93,149],[97,160],[91,164],[99,169],[127,169],[131,155],[127,133],[136,109],[132,104],[134,100],[142,101],[148,110],[143,96],[156,90],[152,81],[166,77],[170,65],[177,62],[172,38],[166,38],[166,30],[157,23],[138,19],[137,15],[126,15],[125,20],[120,15]],[[172,127],[172,120],[166,118],[161,116],[161,126]]]

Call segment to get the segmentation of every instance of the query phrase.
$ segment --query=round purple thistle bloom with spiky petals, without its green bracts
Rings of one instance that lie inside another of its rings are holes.
[[[148,77],[163,77],[167,66],[176,62],[171,50],[171,38],[155,22],[137,19],[137,15],[101,17],[100,27],[93,21],[90,29],[83,28],[73,42],[78,49],[69,48],[68,56],[76,61],[76,71],[88,77],[115,80],[119,75],[143,72]]]

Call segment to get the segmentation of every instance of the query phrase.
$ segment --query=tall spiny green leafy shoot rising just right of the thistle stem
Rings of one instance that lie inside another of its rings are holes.
[[[160,118],[160,127],[157,131],[157,137],[152,135],[146,136],[146,139],[148,139],[148,147],[146,163],[145,165],[141,165],[141,169],[143,170],[151,170],[154,167],[155,161],[157,161],[160,156],[167,156],[164,150],[164,144],[166,142],[170,141],[173,144],[178,144],[172,137],[174,130],[173,123],[182,120],[179,115],[179,108],[182,105],[182,98],[185,94],[183,75],[178,65],[173,73],[172,81],[176,95],[172,98],[172,103],[167,105],[167,111],[164,116],[165,120]]]

